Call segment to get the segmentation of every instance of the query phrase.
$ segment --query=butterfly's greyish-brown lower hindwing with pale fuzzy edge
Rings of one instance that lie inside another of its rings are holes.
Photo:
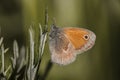
[[[74,54],[74,48],[70,41],[66,38],[62,30],[52,31],[49,38],[52,62],[60,65],[67,65],[73,62],[76,58],[76,54]]]

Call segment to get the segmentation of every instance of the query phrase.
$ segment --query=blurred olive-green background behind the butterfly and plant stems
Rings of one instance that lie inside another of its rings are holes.
[[[20,46],[25,44],[30,25],[36,32],[39,23],[44,25],[46,7],[49,26],[55,17],[58,26],[88,28],[97,36],[95,46],[74,63],[54,64],[47,80],[120,80],[120,0],[0,0],[0,36],[5,46],[12,49],[14,39]],[[50,58],[47,46],[41,74]]]

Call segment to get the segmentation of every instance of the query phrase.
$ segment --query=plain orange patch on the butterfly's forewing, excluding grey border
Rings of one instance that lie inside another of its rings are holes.
[[[87,40],[83,38],[84,35],[88,34],[88,31],[85,29],[63,28],[63,31],[76,50],[80,49],[87,42]]]

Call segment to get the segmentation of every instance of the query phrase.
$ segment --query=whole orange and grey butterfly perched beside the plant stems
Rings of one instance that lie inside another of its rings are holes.
[[[49,49],[51,61],[60,65],[68,65],[76,56],[93,47],[96,35],[84,28],[51,26],[49,33]]]

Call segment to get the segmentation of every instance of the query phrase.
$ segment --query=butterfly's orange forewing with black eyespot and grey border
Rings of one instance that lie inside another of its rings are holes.
[[[90,30],[83,28],[63,28],[63,31],[75,50],[79,50],[79,53],[87,51],[95,43],[96,36]]]

